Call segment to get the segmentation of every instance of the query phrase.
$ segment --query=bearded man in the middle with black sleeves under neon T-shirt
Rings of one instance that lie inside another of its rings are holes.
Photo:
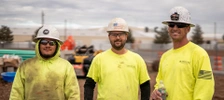
[[[98,100],[149,100],[150,77],[142,57],[124,46],[129,35],[122,18],[114,18],[107,27],[112,46],[98,54],[90,66],[84,85],[84,99],[93,100],[95,84]]]

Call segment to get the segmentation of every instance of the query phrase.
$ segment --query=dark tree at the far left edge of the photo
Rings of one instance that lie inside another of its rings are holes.
[[[10,43],[13,41],[13,35],[12,31],[9,27],[2,25],[0,29],[0,44],[2,44],[2,47],[5,43]]]

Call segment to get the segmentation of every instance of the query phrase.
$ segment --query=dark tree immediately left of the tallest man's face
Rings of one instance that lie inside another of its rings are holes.
[[[155,39],[153,41],[155,44],[168,44],[168,43],[171,42],[171,39],[170,39],[170,36],[168,34],[166,26],[161,28],[160,31],[158,31],[158,27],[155,27],[154,31],[157,33],[155,35]]]

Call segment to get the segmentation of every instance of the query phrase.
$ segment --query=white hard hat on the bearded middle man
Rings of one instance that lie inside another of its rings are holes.
[[[114,18],[110,21],[107,32],[111,31],[123,31],[129,33],[128,24],[122,18]]]

